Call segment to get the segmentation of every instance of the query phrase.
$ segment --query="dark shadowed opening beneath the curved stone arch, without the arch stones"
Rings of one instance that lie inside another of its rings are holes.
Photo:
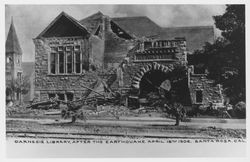
[[[166,99],[167,102],[191,104],[188,80],[185,76],[177,78],[173,73],[151,70],[143,75],[139,86],[139,98],[146,98],[148,101]]]

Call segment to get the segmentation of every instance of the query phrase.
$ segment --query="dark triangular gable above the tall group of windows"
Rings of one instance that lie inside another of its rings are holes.
[[[49,26],[38,35],[39,37],[72,37],[88,36],[89,33],[84,26],[65,12],[58,15]]]

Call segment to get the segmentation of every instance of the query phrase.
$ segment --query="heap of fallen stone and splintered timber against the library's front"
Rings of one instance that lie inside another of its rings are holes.
[[[121,109],[119,106],[121,105],[121,94],[113,92],[101,79],[97,80],[92,87],[81,86],[85,87],[88,93],[78,100],[63,101],[55,97],[47,101],[31,103],[27,108],[43,110],[59,109],[61,111],[60,115],[63,118],[71,117],[72,122],[75,122],[77,118],[86,120],[89,115],[93,116],[93,114],[97,114],[99,116],[99,114],[104,112],[119,119],[119,116],[127,110],[127,108],[123,107]]]

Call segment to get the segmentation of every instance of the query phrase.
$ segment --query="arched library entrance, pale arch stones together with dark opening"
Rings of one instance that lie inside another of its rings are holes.
[[[190,104],[188,77],[183,66],[163,65],[156,62],[144,65],[132,78],[133,94],[139,99],[150,93],[167,102]]]

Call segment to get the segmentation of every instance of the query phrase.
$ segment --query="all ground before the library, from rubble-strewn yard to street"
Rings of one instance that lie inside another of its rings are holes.
[[[174,126],[175,120],[157,112],[118,112],[119,119],[100,108],[88,114],[87,120],[70,123],[60,115],[45,115],[58,110],[8,109],[7,138],[155,138],[155,139],[225,139],[246,138],[245,120],[189,119]],[[109,111],[109,110],[108,110]]]

